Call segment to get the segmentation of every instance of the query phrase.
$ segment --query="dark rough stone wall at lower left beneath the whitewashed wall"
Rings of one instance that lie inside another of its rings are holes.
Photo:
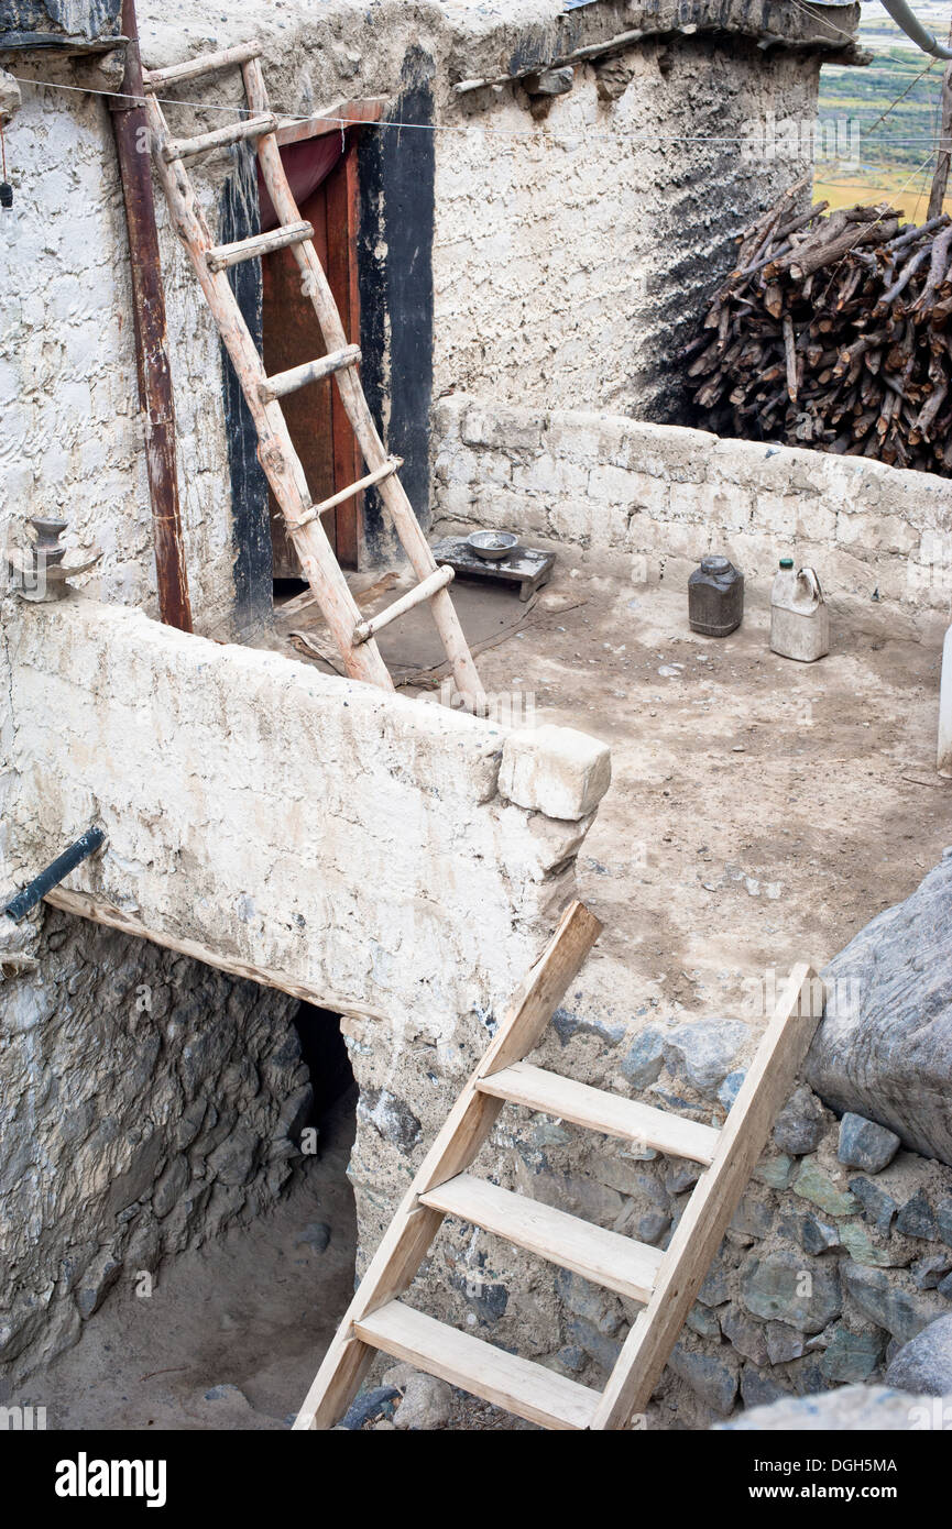
[[[0,1401],[272,1203],[311,1104],[292,998],[60,911],[29,950],[0,980]]]

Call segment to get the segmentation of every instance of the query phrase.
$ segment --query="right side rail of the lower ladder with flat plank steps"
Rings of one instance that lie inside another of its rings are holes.
[[[684,1318],[761,1156],[776,1112],[788,1098],[822,1014],[822,982],[794,966],[764,1032],[747,1078],[664,1255],[647,1306],[624,1339],[592,1420],[594,1430],[626,1428],[647,1407]]]

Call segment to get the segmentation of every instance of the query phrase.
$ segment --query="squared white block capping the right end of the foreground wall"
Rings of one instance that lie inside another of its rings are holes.
[[[523,728],[502,746],[499,794],[548,818],[585,818],[612,778],[608,743],[575,728]]]

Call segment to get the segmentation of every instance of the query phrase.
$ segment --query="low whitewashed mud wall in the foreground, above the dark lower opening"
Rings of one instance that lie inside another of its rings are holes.
[[[412,1015],[436,1038],[508,994],[571,893],[603,745],[565,729],[580,748],[563,768],[556,729],[536,774],[505,784],[548,729],[121,607],[11,604],[21,861],[98,821],[109,849],[70,885],[393,1027]]]

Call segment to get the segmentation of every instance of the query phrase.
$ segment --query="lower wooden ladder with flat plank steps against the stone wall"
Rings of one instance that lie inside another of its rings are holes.
[[[643,1413],[822,1012],[822,983],[796,966],[721,1130],[591,1089],[525,1061],[595,943],[580,902],[513,1000],[403,1200],[328,1349],[294,1427],[332,1428],[378,1349],[546,1428],[626,1428]],[[522,1104],[641,1150],[703,1165],[666,1252],[467,1173],[504,1104]],[[605,1391],[424,1316],[399,1297],[444,1216],[481,1226],[643,1303]]]

